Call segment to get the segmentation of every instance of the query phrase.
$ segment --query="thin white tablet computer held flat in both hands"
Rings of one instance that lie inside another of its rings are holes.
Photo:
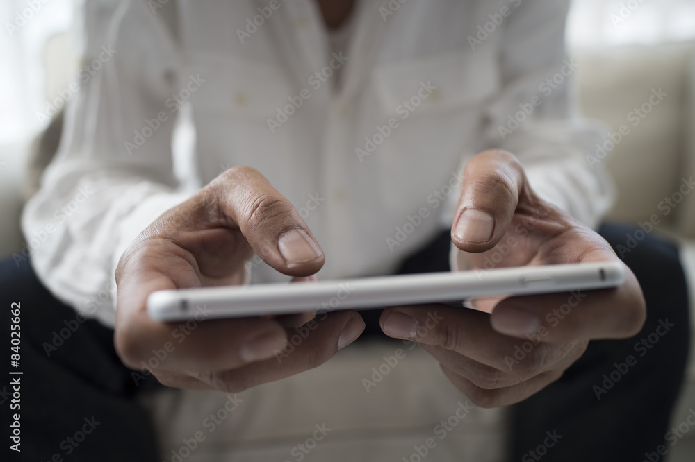
[[[435,302],[463,306],[472,298],[606,289],[624,281],[622,264],[598,262],[206,287],[153,292],[147,313],[154,320],[175,321],[194,318],[202,307],[206,318],[213,319]]]

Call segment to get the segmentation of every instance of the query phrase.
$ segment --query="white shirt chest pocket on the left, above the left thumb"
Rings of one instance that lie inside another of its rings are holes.
[[[283,187],[281,176],[272,172],[293,168],[291,156],[279,155],[292,132],[269,121],[277,120],[278,108],[287,111],[288,99],[298,94],[285,69],[208,54],[195,57],[186,70],[183,80],[189,74],[206,80],[190,98],[202,180],[208,182],[230,166],[248,165]]]

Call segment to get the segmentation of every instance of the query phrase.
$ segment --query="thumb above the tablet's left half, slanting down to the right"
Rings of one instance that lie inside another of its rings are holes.
[[[234,167],[215,179],[211,191],[222,214],[218,219],[238,227],[272,268],[287,275],[309,276],[323,266],[323,250],[300,213],[261,173]]]

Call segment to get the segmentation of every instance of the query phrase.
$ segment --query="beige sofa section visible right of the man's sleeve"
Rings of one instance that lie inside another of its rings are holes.
[[[580,62],[578,105],[586,117],[605,124],[601,147],[606,155],[597,147],[589,162],[605,162],[616,184],[616,202],[607,219],[644,230],[650,230],[652,219],[658,224],[649,232],[678,242],[695,327],[695,191],[687,187],[695,178],[695,43],[574,54]],[[627,126],[625,135],[621,126]],[[605,150],[612,146],[612,151]],[[636,237],[639,234],[633,234]],[[674,426],[695,409],[695,342],[689,350]],[[695,431],[685,434],[669,454],[672,462],[692,461]]]

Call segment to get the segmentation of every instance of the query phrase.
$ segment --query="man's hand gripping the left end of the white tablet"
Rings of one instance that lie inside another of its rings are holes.
[[[247,167],[222,173],[149,225],[116,269],[115,345],[126,366],[142,369],[169,343],[174,348],[165,359],[147,366],[160,382],[236,392],[319,366],[361,334],[364,323],[355,311],[322,314],[291,354],[276,359],[289,328],[313,315],[203,320],[193,330],[147,316],[153,291],[240,284],[254,251],[295,280],[316,273],[325,259],[297,209]]]

